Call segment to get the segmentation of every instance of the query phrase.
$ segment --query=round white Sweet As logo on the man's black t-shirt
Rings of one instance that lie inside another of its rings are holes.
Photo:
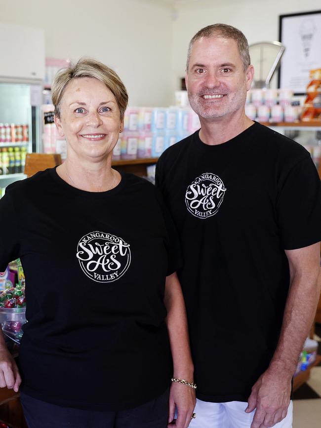
[[[195,217],[206,219],[217,213],[226,188],[215,174],[204,173],[197,177],[187,188],[185,203]]]

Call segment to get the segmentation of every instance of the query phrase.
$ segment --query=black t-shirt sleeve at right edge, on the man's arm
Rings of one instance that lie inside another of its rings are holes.
[[[321,182],[310,156],[299,161],[283,180],[277,216],[284,250],[321,240]]]

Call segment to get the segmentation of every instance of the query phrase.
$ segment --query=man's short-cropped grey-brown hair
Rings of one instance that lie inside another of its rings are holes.
[[[223,39],[235,40],[237,42],[238,51],[240,54],[241,61],[243,63],[243,69],[244,71],[247,70],[247,67],[251,63],[251,60],[246,37],[240,30],[235,27],[232,27],[232,25],[213,24],[202,28],[190,41],[187,51],[186,71],[188,71],[193,44],[196,40],[201,39],[202,37],[222,37]]]

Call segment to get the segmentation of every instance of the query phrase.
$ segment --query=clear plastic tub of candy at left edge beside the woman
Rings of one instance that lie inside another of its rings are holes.
[[[20,342],[22,326],[27,322],[26,308],[0,308],[0,323],[5,336]]]

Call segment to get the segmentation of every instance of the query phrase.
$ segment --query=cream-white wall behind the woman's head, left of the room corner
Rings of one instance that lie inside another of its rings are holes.
[[[44,29],[47,57],[88,55],[110,65],[131,105],[167,106],[172,99],[172,18],[157,2],[0,0],[0,21]]]

